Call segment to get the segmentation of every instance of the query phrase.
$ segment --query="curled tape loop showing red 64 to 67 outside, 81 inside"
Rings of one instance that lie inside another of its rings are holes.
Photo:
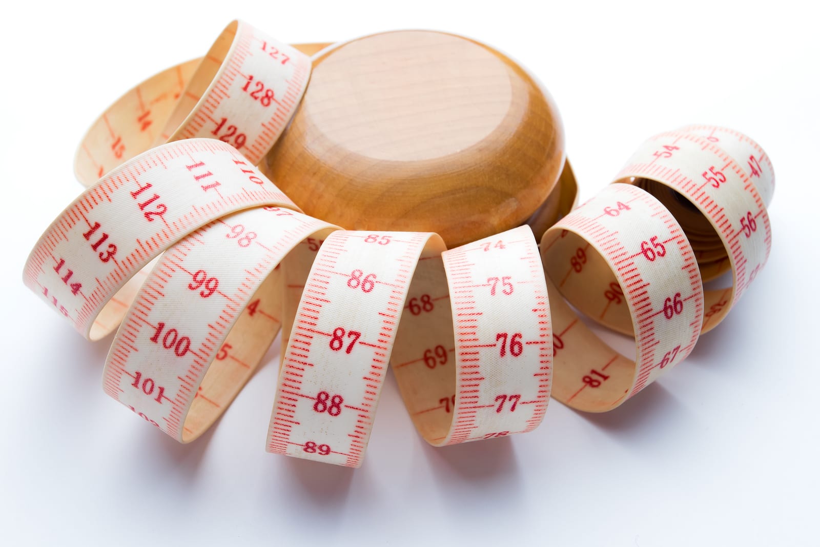
[[[644,190],[608,186],[544,234],[541,256],[558,400],[591,412],[615,408],[695,347],[704,317],[695,253],[674,217]],[[635,358],[599,340],[563,298],[599,321],[626,317]]]

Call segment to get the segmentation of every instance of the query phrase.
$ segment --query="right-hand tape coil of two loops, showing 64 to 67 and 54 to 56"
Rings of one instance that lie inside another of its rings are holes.
[[[541,240],[556,331],[554,396],[590,412],[617,407],[686,358],[749,287],[772,240],[758,193],[759,186],[772,196],[771,162],[734,130],[700,125],[658,134],[615,182],[628,184],[604,189]],[[713,253],[696,253],[692,242]],[[714,278],[727,270],[731,286],[704,291],[702,271]],[[634,362],[599,340],[575,310],[635,336]]]

